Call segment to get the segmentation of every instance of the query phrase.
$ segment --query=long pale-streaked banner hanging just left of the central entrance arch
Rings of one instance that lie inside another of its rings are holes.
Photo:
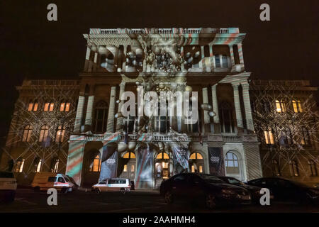
[[[135,186],[137,188],[152,187],[153,153],[150,145],[138,149],[138,166],[136,170]]]

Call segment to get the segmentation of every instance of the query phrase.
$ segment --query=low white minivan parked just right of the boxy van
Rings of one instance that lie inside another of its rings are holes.
[[[124,178],[111,178],[103,179],[101,182],[92,186],[94,192],[130,192],[130,179]]]

